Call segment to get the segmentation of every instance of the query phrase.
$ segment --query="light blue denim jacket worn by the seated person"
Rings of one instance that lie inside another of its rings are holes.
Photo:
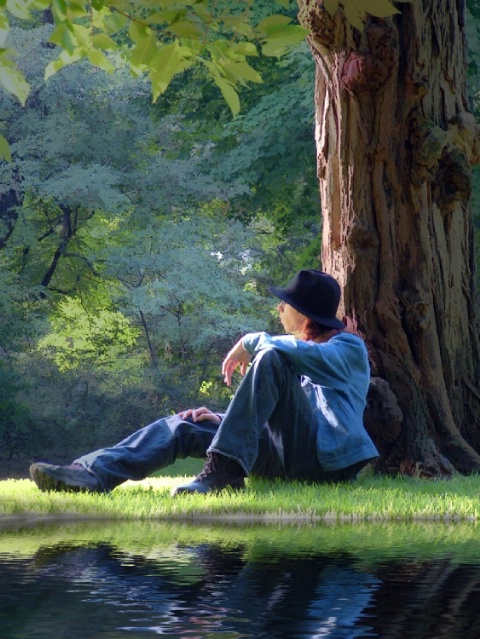
[[[317,418],[317,455],[325,470],[378,457],[363,425],[370,365],[360,337],[342,332],[318,344],[290,335],[248,333],[242,344],[252,354],[276,349],[290,362]]]

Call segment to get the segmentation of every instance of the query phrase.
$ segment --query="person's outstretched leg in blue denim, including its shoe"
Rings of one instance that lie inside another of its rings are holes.
[[[208,420],[193,423],[172,415],[111,448],[83,455],[70,466],[33,464],[30,474],[43,490],[108,492],[127,479],[144,479],[177,458],[204,458],[217,428]]]

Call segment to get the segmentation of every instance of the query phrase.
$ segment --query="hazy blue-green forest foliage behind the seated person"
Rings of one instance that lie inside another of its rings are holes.
[[[79,62],[45,82],[52,30],[14,26],[31,91],[25,106],[0,95],[12,155],[0,164],[0,457],[69,459],[163,414],[221,411],[234,392],[223,355],[246,332],[279,330],[268,286],[321,267],[306,44],[251,63],[263,82],[233,118],[199,68],[152,103],[121,52],[113,73]],[[475,169],[477,238],[479,204]]]

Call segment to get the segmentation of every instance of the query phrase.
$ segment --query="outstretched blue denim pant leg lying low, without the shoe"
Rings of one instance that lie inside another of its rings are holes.
[[[208,420],[194,423],[178,415],[159,419],[111,448],[101,448],[76,459],[111,490],[127,479],[140,480],[170,466],[176,459],[204,458],[218,429]]]

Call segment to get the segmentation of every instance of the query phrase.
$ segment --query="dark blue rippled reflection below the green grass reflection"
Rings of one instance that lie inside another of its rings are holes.
[[[241,532],[229,543],[172,537],[144,552],[56,537],[31,554],[12,552],[0,537],[2,639],[477,639],[480,632],[480,566],[445,556],[375,561],[354,546],[298,544],[292,552],[251,535],[243,543]],[[31,531],[29,539],[34,546]]]

